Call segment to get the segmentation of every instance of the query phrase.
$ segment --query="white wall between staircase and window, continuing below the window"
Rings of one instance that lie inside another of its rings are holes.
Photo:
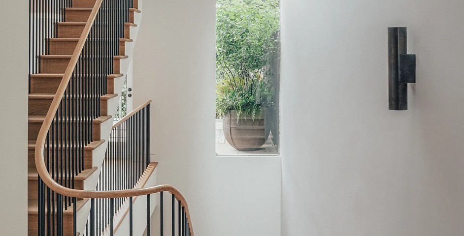
[[[145,0],[142,14],[133,105],[153,100],[158,184],[185,194],[196,235],[280,235],[280,158],[215,156],[215,0]]]

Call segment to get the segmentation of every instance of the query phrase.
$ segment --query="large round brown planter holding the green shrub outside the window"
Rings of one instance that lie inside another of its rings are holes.
[[[252,151],[261,148],[269,135],[265,127],[265,118],[255,118],[254,120],[251,117],[243,116],[237,118],[235,111],[224,117],[222,125],[227,142],[239,151]]]

